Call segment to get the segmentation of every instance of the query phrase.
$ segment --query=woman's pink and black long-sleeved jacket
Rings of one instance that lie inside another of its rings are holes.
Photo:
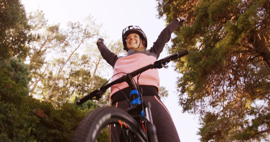
[[[165,44],[170,40],[171,34],[178,27],[178,20],[174,19],[169,23],[160,33],[157,40],[153,43],[153,46],[144,52],[135,52],[132,49],[129,49],[127,56],[119,56],[112,53],[103,42],[98,42],[97,46],[102,55],[102,57],[113,67],[112,81],[126,75],[125,73],[133,72],[139,68],[142,68],[146,65],[149,65],[157,61],[160,53],[163,51]],[[137,76],[134,77],[134,80],[137,83]],[[158,96],[158,86],[159,86],[159,77],[157,69],[150,69],[141,73],[139,77],[139,84],[143,90],[143,96],[147,95],[156,95]],[[114,102],[124,100],[122,90],[127,97],[129,98],[129,86],[126,82],[122,82],[111,87],[110,98]]]

